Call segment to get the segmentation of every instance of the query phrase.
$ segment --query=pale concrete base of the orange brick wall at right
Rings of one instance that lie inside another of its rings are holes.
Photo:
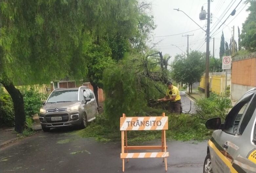
[[[232,84],[231,85],[231,100],[238,101],[252,86]]]

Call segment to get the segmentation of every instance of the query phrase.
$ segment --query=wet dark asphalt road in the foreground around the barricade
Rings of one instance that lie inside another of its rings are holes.
[[[153,141],[143,145],[160,145]],[[203,172],[207,142],[167,142],[168,171]],[[17,173],[115,173],[122,172],[120,143],[99,143],[80,138],[72,129],[39,132],[0,150],[0,172]],[[147,151],[144,151],[147,152]],[[152,151],[148,151],[152,152]],[[130,159],[126,173],[164,173],[161,158]]]

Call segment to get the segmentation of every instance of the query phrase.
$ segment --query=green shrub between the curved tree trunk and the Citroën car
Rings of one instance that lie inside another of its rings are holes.
[[[47,99],[45,94],[40,93],[35,87],[21,89],[24,99],[25,115],[33,117],[39,113],[43,100]]]

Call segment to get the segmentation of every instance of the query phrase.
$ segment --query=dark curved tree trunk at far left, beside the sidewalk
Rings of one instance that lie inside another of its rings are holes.
[[[1,83],[11,95],[15,114],[15,131],[17,131],[18,133],[22,133],[22,130],[24,128],[24,122],[26,120],[23,96],[12,83],[8,83],[5,81],[1,81]]]

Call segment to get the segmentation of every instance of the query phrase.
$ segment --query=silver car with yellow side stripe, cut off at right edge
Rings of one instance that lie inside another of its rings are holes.
[[[221,118],[206,121],[208,129],[218,129],[208,141],[204,173],[256,172],[256,88],[249,90]]]

